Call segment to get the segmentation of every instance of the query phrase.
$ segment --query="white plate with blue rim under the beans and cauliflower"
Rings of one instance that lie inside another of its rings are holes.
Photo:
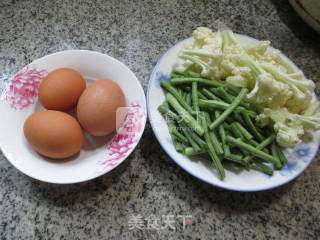
[[[255,43],[257,40],[237,34],[240,42],[245,44]],[[262,191],[281,186],[301,174],[315,157],[319,146],[319,132],[315,134],[314,141],[309,144],[299,144],[294,149],[288,149],[285,154],[289,164],[281,171],[275,171],[273,176],[268,176],[258,171],[234,172],[226,170],[226,178],[221,181],[216,176],[215,170],[209,161],[203,159],[187,158],[176,152],[168,131],[167,124],[157,111],[157,107],[165,100],[164,92],[160,87],[160,80],[169,79],[173,65],[177,62],[178,53],[183,45],[190,42],[188,38],[171,47],[154,67],[148,85],[147,109],[149,121],[162,148],[185,171],[202,181],[214,186],[234,191]],[[283,56],[295,69],[293,62]]]

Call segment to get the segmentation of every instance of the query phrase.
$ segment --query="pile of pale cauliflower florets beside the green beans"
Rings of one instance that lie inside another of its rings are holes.
[[[249,89],[247,100],[261,112],[257,120],[274,128],[281,146],[292,147],[320,128],[315,114],[320,104],[311,103],[315,84],[269,46],[269,41],[244,45],[230,30],[199,27],[175,68]]]

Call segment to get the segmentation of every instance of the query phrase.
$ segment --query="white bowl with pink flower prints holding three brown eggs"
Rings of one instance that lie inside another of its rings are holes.
[[[56,163],[29,146],[22,128],[30,114],[41,110],[37,101],[41,79],[60,67],[79,71],[87,84],[95,79],[114,80],[125,94],[128,111],[122,127],[109,140],[89,139],[91,150],[87,147],[70,161]],[[138,144],[147,117],[144,91],[134,73],[106,54],[86,50],[50,54],[16,73],[1,95],[0,116],[0,147],[9,162],[32,178],[58,184],[90,180],[117,167]]]

